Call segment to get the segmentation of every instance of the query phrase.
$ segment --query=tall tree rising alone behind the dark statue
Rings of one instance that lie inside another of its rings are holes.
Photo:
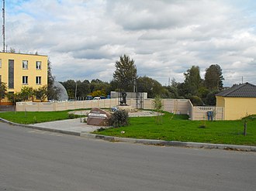
[[[116,71],[113,73],[113,79],[119,84],[119,88],[125,91],[133,91],[133,82],[137,80],[137,67],[130,56],[124,54],[120,60],[116,61]]]

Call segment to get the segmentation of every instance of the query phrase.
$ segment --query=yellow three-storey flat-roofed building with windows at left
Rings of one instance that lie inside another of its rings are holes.
[[[38,89],[47,85],[47,60],[41,55],[0,53],[0,81],[7,84],[10,93],[24,86]]]

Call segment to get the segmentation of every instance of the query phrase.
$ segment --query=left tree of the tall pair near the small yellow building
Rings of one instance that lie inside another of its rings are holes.
[[[192,66],[191,69],[187,70],[187,73],[184,73],[184,76],[184,84],[187,89],[187,94],[198,94],[199,85],[202,82],[199,67]]]

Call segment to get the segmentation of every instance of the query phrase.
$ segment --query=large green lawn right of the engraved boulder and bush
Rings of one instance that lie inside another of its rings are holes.
[[[146,138],[165,141],[207,142],[232,145],[256,145],[256,118],[247,120],[244,136],[244,120],[240,121],[189,121],[187,115],[165,112],[162,124],[155,117],[130,118],[130,125],[97,131],[99,135],[126,138]],[[202,128],[202,126],[206,128]],[[201,126],[201,127],[200,127]],[[125,131],[121,134],[121,131]]]

